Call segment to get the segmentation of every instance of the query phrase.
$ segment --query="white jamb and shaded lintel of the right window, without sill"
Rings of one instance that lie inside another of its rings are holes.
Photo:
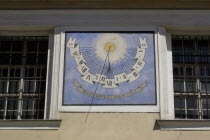
[[[175,119],[174,112],[174,88],[173,88],[173,60],[172,60],[172,35],[210,35],[210,28],[203,27],[185,28],[179,26],[159,28],[158,45],[161,55],[160,63],[160,119],[161,120],[180,120]],[[163,74],[164,73],[164,74]],[[189,120],[189,119],[188,119]]]

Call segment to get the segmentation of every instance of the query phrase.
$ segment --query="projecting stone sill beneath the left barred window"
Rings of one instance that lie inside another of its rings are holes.
[[[59,129],[62,120],[0,120],[0,129]]]

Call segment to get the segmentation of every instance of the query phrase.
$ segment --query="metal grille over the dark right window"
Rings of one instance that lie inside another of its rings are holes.
[[[175,118],[210,119],[210,36],[172,36]]]

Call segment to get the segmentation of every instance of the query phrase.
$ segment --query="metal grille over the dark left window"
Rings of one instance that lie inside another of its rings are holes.
[[[0,119],[43,119],[48,37],[0,37]]]

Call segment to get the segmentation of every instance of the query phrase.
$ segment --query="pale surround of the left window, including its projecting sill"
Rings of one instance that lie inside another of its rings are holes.
[[[17,29],[17,30],[15,30]],[[37,27],[38,30],[38,27]],[[58,129],[61,120],[59,119],[58,94],[53,92],[52,78],[54,75],[54,33],[49,29],[41,31],[19,30],[14,27],[12,30],[0,30],[0,36],[47,36],[48,37],[48,56],[47,56],[47,73],[46,73],[46,93],[45,93],[45,109],[44,118],[38,120],[22,119],[22,120],[0,120],[0,129]],[[50,79],[51,78],[51,79]],[[54,93],[54,94],[53,94]]]

